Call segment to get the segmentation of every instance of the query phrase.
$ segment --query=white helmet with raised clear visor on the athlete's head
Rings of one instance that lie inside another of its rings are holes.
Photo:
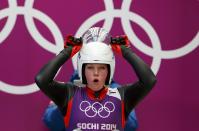
[[[77,70],[80,80],[86,84],[85,64],[100,63],[108,65],[106,85],[110,84],[115,71],[115,57],[111,49],[110,35],[103,28],[90,28],[82,36],[83,46],[77,56]]]

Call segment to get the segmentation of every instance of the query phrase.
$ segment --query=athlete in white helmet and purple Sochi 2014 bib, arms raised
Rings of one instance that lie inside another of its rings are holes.
[[[132,66],[137,82],[109,88],[115,70],[112,50]],[[60,67],[78,51],[78,74],[85,87],[54,80]],[[66,130],[123,131],[129,113],[151,91],[156,77],[131,51],[126,36],[112,38],[103,28],[94,27],[82,38],[68,36],[65,48],[41,69],[35,81],[58,105]]]

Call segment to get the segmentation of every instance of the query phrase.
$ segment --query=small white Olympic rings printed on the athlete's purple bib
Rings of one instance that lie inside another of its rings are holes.
[[[88,101],[82,101],[79,109],[89,118],[96,117],[97,115],[101,118],[108,118],[115,111],[115,105],[111,101],[105,102],[104,105],[99,102],[91,104]]]

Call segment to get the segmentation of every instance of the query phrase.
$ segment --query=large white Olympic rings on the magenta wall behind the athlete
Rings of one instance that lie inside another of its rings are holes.
[[[130,10],[132,0],[123,0],[121,9],[114,8],[113,0],[104,0],[103,2],[105,4],[105,10],[97,12],[85,20],[77,30],[75,35],[76,37],[80,37],[86,30],[102,20],[104,20],[103,28],[107,29],[107,31],[110,31],[114,18],[119,17],[121,18],[124,33],[128,36],[130,42],[134,43],[133,46],[144,54],[153,58],[151,68],[155,74],[158,73],[162,59],[175,59],[182,57],[192,52],[199,46],[199,31],[197,31],[193,39],[190,40],[190,42],[185,46],[173,50],[162,50],[159,36],[153,26],[139,14],[136,14]],[[5,26],[0,32],[0,45],[9,36],[14,28],[17,16],[23,15],[25,25],[31,34],[31,37],[33,37],[33,39],[45,50],[54,54],[58,54],[63,48],[64,41],[61,31],[59,30],[57,24],[48,15],[44,14],[38,9],[35,9],[33,7],[33,3],[34,0],[25,0],[24,6],[17,6],[16,0],[8,0],[8,8],[0,10],[0,20],[8,17]],[[51,43],[41,35],[34,23],[33,18],[38,19],[49,28],[54,37],[55,43]],[[147,44],[137,37],[133,31],[133,28],[131,27],[130,21],[133,21],[139,25],[147,33],[152,43],[152,48],[147,46]],[[77,69],[76,59],[77,55],[73,57],[73,67],[75,69]],[[0,80],[0,90],[10,94],[23,95],[34,93],[39,89],[35,83],[17,86]]]

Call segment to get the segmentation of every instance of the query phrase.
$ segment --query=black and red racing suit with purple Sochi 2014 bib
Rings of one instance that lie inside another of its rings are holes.
[[[71,51],[70,47],[63,49],[35,78],[41,91],[58,105],[66,130],[124,130],[129,113],[156,83],[151,69],[130,48],[122,48],[122,55],[133,67],[138,81],[115,89],[105,86],[94,92],[88,87],[54,80]]]

